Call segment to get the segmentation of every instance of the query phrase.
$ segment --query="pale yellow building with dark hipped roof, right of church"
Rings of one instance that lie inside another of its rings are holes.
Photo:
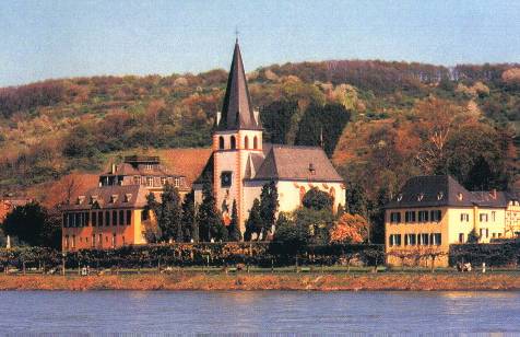
[[[449,246],[473,234],[480,243],[517,236],[519,205],[517,194],[469,191],[449,175],[413,177],[386,206],[387,262],[399,265],[406,252],[436,249],[446,266]]]

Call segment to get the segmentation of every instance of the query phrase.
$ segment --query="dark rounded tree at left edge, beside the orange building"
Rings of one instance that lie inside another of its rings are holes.
[[[61,247],[61,216],[38,202],[14,208],[2,223],[5,235],[16,236],[31,246]]]

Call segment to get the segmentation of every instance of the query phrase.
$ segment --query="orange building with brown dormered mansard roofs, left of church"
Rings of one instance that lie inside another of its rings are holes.
[[[146,243],[146,196],[159,200],[166,183],[181,196],[191,186],[186,177],[164,167],[157,156],[127,156],[99,175],[97,187],[63,206],[62,249],[114,248]]]

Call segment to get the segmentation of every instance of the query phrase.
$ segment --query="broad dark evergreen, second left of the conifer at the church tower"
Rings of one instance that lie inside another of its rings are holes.
[[[180,208],[179,190],[166,184],[161,195],[161,210],[157,217],[157,224],[161,229],[161,239],[182,242],[182,211]]]

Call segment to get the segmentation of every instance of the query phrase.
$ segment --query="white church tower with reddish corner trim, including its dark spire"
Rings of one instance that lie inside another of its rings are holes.
[[[262,126],[258,112],[251,107],[238,39],[233,53],[222,112],[216,115],[212,149],[216,206],[227,224],[235,200],[238,223],[244,233],[247,219],[244,204],[246,165],[251,153],[263,152]]]

